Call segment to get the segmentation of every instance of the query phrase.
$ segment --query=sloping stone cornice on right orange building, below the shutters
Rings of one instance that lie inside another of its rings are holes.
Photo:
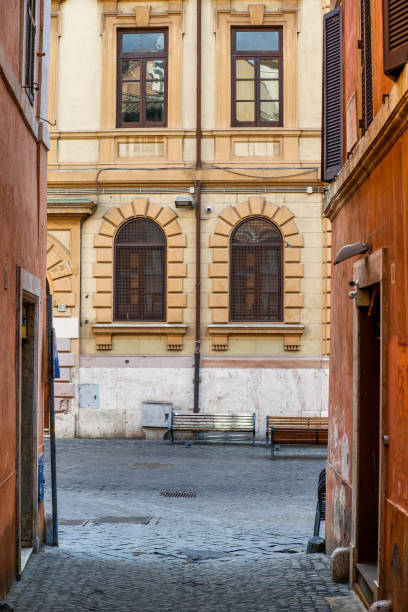
[[[331,221],[407,128],[408,66],[405,66],[389,94],[388,102],[378,111],[324,197],[323,212]]]

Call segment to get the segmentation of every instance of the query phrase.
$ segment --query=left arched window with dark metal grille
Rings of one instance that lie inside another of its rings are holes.
[[[166,238],[157,223],[132,219],[115,239],[114,318],[165,321]]]

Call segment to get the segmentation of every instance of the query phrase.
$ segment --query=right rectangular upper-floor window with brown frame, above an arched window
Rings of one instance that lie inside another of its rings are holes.
[[[282,29],[232,30],[232,125],[283,125]]]

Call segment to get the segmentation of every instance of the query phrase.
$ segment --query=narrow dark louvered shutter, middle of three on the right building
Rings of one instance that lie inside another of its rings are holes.
[[[361,0],[361,98],[362,129],[373,120],[373,65],[371,57],[371,0]]]

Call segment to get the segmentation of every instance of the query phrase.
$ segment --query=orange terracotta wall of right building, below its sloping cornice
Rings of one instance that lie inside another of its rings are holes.
[[[347,202],[333,223],[333,253],[347,243],[370,239],[373,251],[387,249],[388,376],[386,422],[390,438],[386,482],[385,586],[393,592],[394,608],[408,609],[402,576],[408,563],[408,132],[405,131],[360,190]],[[329,550],[349,543],[339,521],[351,511],[350,478],[353,412],[353,309],[347,296],[353,278],[348,260],[333,268],[332,372],[329,417],[330,455],[328,470],[328,516],[326,537]],[[391,264],[395,282],[391,282]],[[348,462],[346,455],[350,456]],[[338,472],[335,472],[331,466]],[[343,480],[343,482],[342,482]],[[344,489],[344,490],[343,490]],[[405,564],[405,565],[404,565]],[[398,590],[398,585],[400,590]],[[403,600],[403,597],[405,599]]]

